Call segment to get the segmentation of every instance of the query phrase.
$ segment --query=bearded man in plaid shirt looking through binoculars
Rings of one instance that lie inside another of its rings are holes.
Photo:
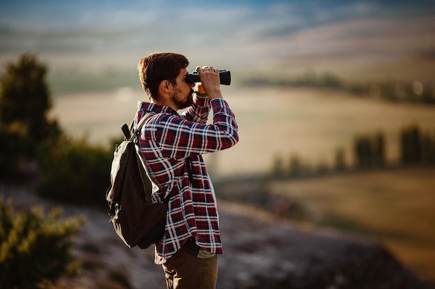
[[[170,196],[154,260],[163,264],[167,288],[215,288],[222,243],[215,192],[202,155],[234,146],[238,127],[222,98],[219,71],[197,67],[201,82],[195,86],[186,82],[188,64],[177,53],[152,53],[140,60],[140,82],[150,101],[138,103],[136,123],[147,112],[156,114],[143,126],[137,144],[153,201]],[[207,125],[210,109],[213,123]]]

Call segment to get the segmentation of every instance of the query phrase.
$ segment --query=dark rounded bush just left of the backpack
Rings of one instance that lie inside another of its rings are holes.
[[[104,204],[112,152],[83,140],[64,139],[38,157],[44,198],[76,204]]]

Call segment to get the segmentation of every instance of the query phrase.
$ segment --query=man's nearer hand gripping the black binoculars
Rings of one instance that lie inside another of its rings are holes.
[[[222,98],[220,91],[219,69],[213,67],[197,67],[201,82],[197,84],[198,94],[207,94],[208,99]]]

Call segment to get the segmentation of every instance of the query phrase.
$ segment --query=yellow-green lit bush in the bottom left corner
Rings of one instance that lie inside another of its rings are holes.
[[[74,270],[69,251],[84,220],[59,217],[58,209],[46,218],[38,207],[15,213],[0,200],[0,288],[42,288]]]

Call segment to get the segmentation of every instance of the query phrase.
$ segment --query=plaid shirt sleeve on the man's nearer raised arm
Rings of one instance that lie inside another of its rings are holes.
[[[206,100],[208,101],[208,100]],[[238,125],[228,103],[222,98],[210,101],[213,123],[189,121],[174,114],[153,119],[151,137],[165,157],[181,159],[192,155],[224,150],[238,142]]]

